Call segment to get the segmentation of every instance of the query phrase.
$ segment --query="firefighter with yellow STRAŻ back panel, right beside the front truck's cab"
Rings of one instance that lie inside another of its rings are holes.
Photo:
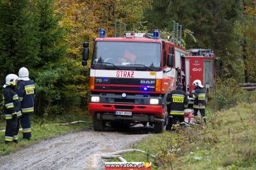
[[[177,89],[171,91],[166,98],[166,105],[170,117],[177,123],[179,120],[180,127],[185,128],[184,109],[188,107],[188,95],[182,90],[183,85],[177,84]]]

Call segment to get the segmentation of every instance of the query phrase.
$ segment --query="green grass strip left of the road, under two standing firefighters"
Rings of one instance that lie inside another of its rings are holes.
[[[4,144],[4,132],[0,132],[0,155],[6,155],[12,151],[20,150],[31,144],[38,143],[44,139],[50,139],[61,134],[67,134],[70,132],[77,132],[84,128],[91,127],[90,123],[76,123],[74,125],[54,125],[54,123],[67,123],[70,121],[92,121],[90,118],[83,114],[55,116],[54,118],[48,118],[48,120],[40,119],[35,116],[31,118],[31,140],[22,139],[22,132],[19,132],[19,144]],[[21,128],[21,127],[20,127]],[[0,121],[0,129],[5,129],[5,121]]]

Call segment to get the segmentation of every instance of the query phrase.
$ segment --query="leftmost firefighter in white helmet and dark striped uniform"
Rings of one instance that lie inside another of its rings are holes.
[[[16,91],[16,83],[19,77],[8,74],[3,86],[4,114],[6,119],[5,143],[18,143],[19,118],[21,116],[20,100]]]

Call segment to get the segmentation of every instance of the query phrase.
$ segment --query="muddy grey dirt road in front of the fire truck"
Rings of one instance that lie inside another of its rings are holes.
[[[127,132],[94,132],[92,129],[62,135],[0,157],[0,169],[103,169],[101,153],[129,148],[150,128],[131,127]]]

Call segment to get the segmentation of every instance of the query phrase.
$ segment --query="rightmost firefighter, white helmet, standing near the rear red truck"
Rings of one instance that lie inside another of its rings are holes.
[[[205,89],[200,80],[195,80],[193,82],[193,85],[195,86],[195,93],[189,95],[189,97],[195,98],[193,105],[193,114],[194,116],[197,116],[197,112],[200,111],[200,114],[203,117],[203,120],[206,124],[208,120],[207,117],[205,116]]]

